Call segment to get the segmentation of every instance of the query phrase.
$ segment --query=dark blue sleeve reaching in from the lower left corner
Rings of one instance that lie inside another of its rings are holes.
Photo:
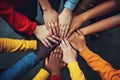
[[[33,52],[29,53],[16,64],[0,74],[0,80],[18,80],[22,75],[25,74],[25,72],[32,68],[37,61],[37,55]]]

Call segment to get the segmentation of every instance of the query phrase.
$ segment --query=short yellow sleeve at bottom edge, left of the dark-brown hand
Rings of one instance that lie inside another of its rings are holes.
[[[49,75],[50,74],[45,69],[41,69],[33,80],[47,80]]]

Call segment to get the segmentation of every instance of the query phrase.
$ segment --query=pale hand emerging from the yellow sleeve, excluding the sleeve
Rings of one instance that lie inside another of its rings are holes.
[[[77,52],[71,47],[67,40],[63,40],[60,44],[63,50],[63,61],[65,63],[74,62],[77,59]]]

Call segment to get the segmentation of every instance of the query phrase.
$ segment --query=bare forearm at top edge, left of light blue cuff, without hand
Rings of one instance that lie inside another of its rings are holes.
[[[52,8],[48,0],[39,0],[39,3],[42,7],[43,12]]]

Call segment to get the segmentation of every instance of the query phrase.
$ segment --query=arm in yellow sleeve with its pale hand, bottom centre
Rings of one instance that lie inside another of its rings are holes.
[[[86,80],[83,72],[77,63],[77,52],[71,47],[67,40],[62,41],[60,44],[63,50],[63,61],[67,63],[72,80]]]

